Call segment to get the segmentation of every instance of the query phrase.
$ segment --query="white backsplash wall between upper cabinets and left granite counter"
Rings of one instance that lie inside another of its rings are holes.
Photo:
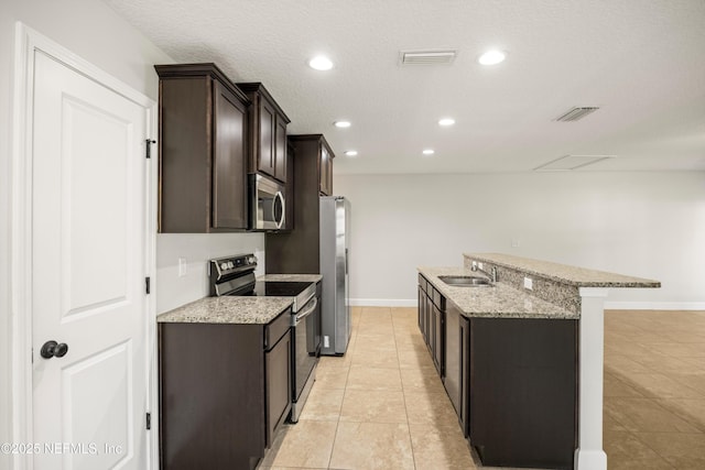
[[[156,314],[208,296],[207,261],[234,253],[254,253],[264,274],[263,233],[158,233]]]

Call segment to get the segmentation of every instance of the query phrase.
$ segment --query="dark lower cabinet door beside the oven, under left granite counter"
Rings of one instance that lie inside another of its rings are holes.
[[[267,371],[267,447],[272,445],[275,428],[291,409],[291,331],[264,353]]]

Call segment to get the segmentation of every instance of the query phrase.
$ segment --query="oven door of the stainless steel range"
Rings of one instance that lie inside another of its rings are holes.
[[[293,346],[293,401],[297,402],[321,356],[321,303],[312,297],[296,314]]]

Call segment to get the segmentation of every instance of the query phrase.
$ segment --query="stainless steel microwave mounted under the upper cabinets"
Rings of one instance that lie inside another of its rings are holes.
[[[249,176],[250,230],[279,230],[284,225],[284,186],[251,173]]]

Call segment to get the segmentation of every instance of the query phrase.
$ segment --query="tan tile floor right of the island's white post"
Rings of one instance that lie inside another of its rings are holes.
[[[705,469],[705,311],[605,313],[610,470]]]

